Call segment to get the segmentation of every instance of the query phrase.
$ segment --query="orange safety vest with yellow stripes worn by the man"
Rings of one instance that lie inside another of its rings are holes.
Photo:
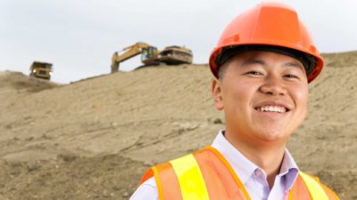
[[[154,176],[160,200],[251,200],[236,172],[220,152],[203,148],[150,168],[141,183]],[[299,172],[288,200],[339,200],[317,178]]]

